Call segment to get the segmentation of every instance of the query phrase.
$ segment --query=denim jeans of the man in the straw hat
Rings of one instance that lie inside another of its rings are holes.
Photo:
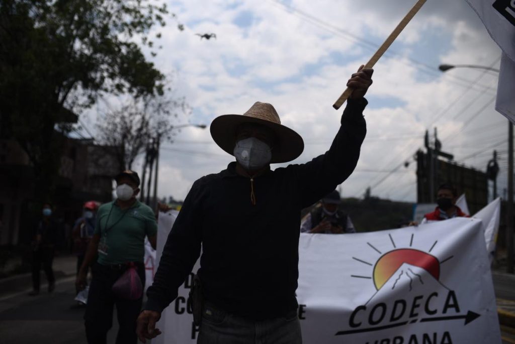
[[[254,321],[207,303],[197,344],[302,344],[297,310],[284,317]]]

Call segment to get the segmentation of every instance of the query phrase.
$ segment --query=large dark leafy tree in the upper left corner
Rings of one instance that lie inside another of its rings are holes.
[[[29,156],[37,200],[55,187],[81,110],[106,93],[163,94],[141,46],[156,54],[150,34],[167,13],[147,0],[0,0],[0,137]]]

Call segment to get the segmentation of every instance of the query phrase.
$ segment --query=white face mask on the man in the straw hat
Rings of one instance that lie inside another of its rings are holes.
[[[272,159],[270,146],[255,137],[236,142],[233,153],[239,165],[246,170],[259,170]]]

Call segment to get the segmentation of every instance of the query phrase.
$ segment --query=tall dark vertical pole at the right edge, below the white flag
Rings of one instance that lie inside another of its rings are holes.
[[[513,273],[513,124],[508,120],[508,204],[506,207],[507,265],[506,271]]]

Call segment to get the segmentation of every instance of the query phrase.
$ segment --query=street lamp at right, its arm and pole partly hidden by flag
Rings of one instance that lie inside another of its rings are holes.
[[[500,73],[499,69],[486,67],[484,65],[470,64],[440,64],[438,69],[442,72],[453,68],[478,68],[496,73]],[[513,273],[513,125],[508,120],[508,204],[506,205],[506,241],[507,241],[507,264],[506,271]]]

